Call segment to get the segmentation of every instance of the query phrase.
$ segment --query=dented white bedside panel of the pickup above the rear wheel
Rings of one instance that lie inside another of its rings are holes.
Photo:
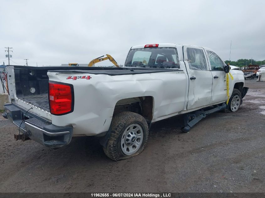
[[[66,79],[90,75],[91,79]],[[49,80],[72,84],[74,111],[51,115],[52,124],[71,124],[74,135],[97,135],[109,130],[116,103],[121,99],[152,96],[152,122],[177,115],[184,109],[187,80],[184,71],[117,75],[48,72]]]

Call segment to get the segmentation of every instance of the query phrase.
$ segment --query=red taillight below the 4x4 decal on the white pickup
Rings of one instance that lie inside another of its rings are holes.
[[[49,83],[49,102],[51,114],[66,114],[73,111],[72,87],[68,84]]]

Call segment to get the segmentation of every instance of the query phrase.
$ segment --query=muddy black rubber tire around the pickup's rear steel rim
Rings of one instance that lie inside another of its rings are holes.
[[[121,149],[121,138],[125,129],[131,124],[139,124],[143,130],[143,140],[139,149],[132,155],[125,155]],[[125,111],[115,115],[111,122],[111,134],[106,148],[103,147],[104,153],[112,160],[125,160],[140,154],[146,145],[148,138],[148,125],[146,119],[140,114]]]

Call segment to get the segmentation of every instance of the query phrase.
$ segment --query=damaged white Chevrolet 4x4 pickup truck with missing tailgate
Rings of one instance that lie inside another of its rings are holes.
[[[188,132],[209,113],[237,111],[248,90],[242,71],[230,70],[226,105],[229,66],[209,48],[170,43],[131,47],[123,68],[7,70],[3,116],[18,126],[16,140],[59,148],[72,137],[95,135],[112,160],[138,155],[151,123],[185,114]]]

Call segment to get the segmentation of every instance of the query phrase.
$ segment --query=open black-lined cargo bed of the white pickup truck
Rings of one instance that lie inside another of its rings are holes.
[[[75,74],[105,74],[110,76],[149,74],[158,72],[183,71],[167,68],[111,68],[111,67],[30,67],[14,66],[16,96],[19,100],[50,112],[48,99],[47,72]]]

